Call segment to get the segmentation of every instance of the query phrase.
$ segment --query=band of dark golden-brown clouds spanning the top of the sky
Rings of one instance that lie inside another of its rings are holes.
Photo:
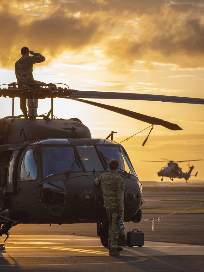
[[[204,1],[1,0],[0,64],[22,46],[57,56],[99,45],[115,67],[134,61],[204,66]],[[18,12],[17,12],[18,11]],[[121,68],[121,67],[120,67]]]

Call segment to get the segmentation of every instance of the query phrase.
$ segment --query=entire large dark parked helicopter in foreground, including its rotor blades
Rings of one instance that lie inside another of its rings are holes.
[[[53,118],[53,98],[73,99],[83,103],[181,130],[176,125],[130,110],[81,98],[131,99],[204,104],[204,99],[150,94],[78,91],[57,87],[57,83],[33,81],[17,88],[17,83],[0,89],[0,96],[10,97],[12,115],[0,119],[0,236],[9,235],[16,224],[97,223],[98,236],[107,246],[108,218],[103,208],[101,188],[94,179],[108,171],[112,158],[120,163],[119,173],[125,183],[124,221],[142,218],[142,186],[124,147],[111,140],[92,139],[77,118]],[[14,116],[14,98],[28,99],[28,118]],[[47,115],[37,115],[38,99],[51,98]]]

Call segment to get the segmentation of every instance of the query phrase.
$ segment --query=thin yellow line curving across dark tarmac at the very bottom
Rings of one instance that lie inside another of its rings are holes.
[[[0,264],[1,266],[58,266],[58,265],[93,265],[93,264],[129,264],[129,263],[137,263],[146,261],[147,258],[145,257],[137,257],[137,260],[134,261],[122,261],[122,262],[103,262],[103,263],[79,263],[79,264]]]

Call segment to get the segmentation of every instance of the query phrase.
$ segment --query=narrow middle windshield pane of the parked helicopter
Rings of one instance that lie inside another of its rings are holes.
[[[77,147],[86,171],[104,171],[96,150],[92,146]]]

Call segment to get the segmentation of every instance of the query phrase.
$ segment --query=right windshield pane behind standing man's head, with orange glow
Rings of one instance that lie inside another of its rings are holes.
[[[106,166],[108,170],[109,168],[109,161],[112,159],[116,159],[119,161],[119,171],[126,171],[127,173],[131,173],[134,176],[136,176],[136,173],[134,169],[132,168],[132,165],[123,152],[121,147],[98,147],[99,151],[101,152],[101,155],[104,157],[106,161]]]

